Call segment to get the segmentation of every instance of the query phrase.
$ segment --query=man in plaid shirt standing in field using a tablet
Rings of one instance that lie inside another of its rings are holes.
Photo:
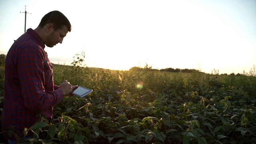
[[[72,86],[67,80],[60,86],[54,85],[53,66],[44,51],[45,45],[53,47],[62,43],[68,32],[71,32],[71,24],[66,16],[52,11],[42,18],[35,30],[28,29],[12,44],[4,69],[3,130],[14,126],[22,137],[24,128],[30,128],[39,113],[51,120],[54,106],[63,96],[73,96],[70,92],[77,85]],[[4,133],[4,136],[9,143],[16,142],[13,134],[10,137]]]

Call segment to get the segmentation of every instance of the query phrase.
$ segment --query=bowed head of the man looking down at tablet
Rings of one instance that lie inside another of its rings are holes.
[[[62,43],[66,34],[71,32],[71,24],[64,14],[59,11],[52,11],[42,18],[35,31],[46,46],[53,47]]]

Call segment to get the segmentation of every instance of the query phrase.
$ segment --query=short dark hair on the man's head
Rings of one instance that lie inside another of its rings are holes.
[[[42,18],[39,26],[43,28],[46,24],[53,24],[55,31],[58,29],[62,29],[63,26],[66,26],[68,28],[68,31],[71,32],[71,24],[68,18],[66,18],[66,16],[64,16],[64,14],[62,14],[58,10],[54,10],[46,14]]]

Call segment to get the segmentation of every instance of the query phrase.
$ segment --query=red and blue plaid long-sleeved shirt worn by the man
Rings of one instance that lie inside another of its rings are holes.
[[[53,83],[53,66],[44,48],[42,39],[30,28],[7,53],[1,117],[3,129],[16,126],[22,134],[25,127],[30,128],[35,123],[39,113],[50,120],[53,107],[63,99],[62,90]],[[4,136],[14,140],[14,135],[10,138],[4,133]]]

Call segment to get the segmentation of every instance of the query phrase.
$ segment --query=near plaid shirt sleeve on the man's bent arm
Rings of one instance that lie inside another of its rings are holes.
[[[41,112],[56,106],[63,98],[62,90],[49,93],[44,89],[44,52],[40,48],[25,47],[18,56],[18,77],[25,106]]]

